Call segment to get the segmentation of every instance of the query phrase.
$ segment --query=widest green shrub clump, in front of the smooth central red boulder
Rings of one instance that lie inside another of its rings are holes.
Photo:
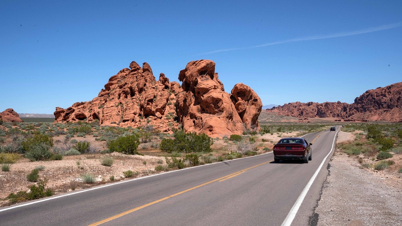
[[[186,134],[183,130],[176,130],[173,133],[174,140],[163,138],[160,142],[160,150],[172,152],[211,152],[213,141],[206,134],[195,132]]]

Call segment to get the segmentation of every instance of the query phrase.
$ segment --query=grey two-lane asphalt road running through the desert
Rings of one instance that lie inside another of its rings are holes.
[[[313,143],[308,164],[274,163],[268,153],[186,168],[2,208],[0,225],[308,225],[335,135],[304,136]]]

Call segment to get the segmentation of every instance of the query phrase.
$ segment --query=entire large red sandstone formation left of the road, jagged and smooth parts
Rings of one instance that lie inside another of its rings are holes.
[[[101,125],[146,126],[171,132],[181,124],[186,132],[211,137],[241,134],[244,129],[258,130],[262,103],[244,84],[236,84],[232,95],[224,91],[211,60],[189,62],[179,73],[178,82],[170,82],[163,73],[156,81],[148,63],[142,68],[131,62],[112,76],[98,97],[56,107],[55,122],[88,122]]]

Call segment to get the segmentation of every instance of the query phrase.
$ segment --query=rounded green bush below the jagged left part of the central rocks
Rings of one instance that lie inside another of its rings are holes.
[[[137,134],[119,137],[117,140],[108,142],[111,152],[123,152],[126,154],[139,154],[137,148],[139,145],[139,136]]]

